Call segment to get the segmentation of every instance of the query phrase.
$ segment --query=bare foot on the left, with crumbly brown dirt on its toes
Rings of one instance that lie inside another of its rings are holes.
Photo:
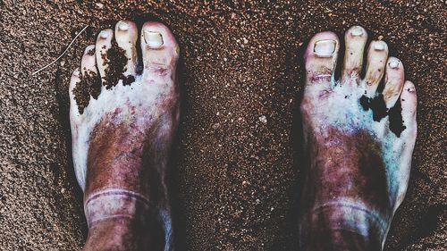
[[[97,44],[86,48],[80,71],[72,74],[72,155],[84,191],[89,250],[100,244],[127,250],[148,245],[141,241],[139,247],[122,247],[123,241],[137,242],[124,239],[132,238],[126,231],[147,228],[148,215],[158,218],[166,244],[171,238],[164,175],[179,121],[179,46],[164,25],[145,23],[139,74],[138,36],[131,21],[102,30]],[[107,237],[110,241],[102,243]]]

